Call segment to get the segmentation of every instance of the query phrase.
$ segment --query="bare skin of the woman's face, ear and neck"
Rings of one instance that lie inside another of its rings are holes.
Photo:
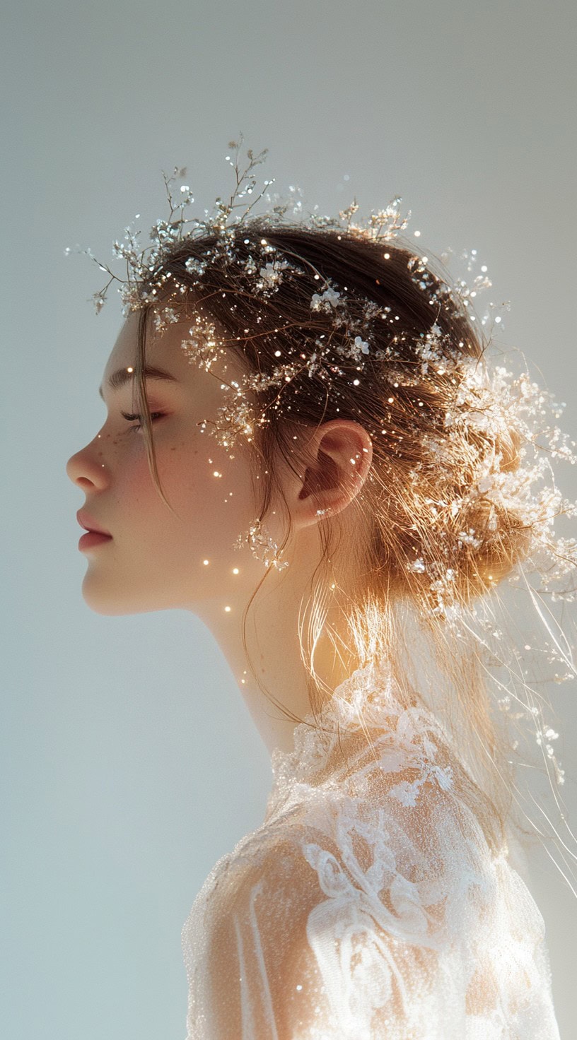
[[[171,608],[197,615],[224,653],[266,746],[270,751],[274,747],[290,751],[295,723],[258,688],[242,642],[243,610],[266,571],[248,545],[233,548],[257,516],[251,448],[240,438],[227,451],[210,436],[209,426],[204,432],[201,426],[204,419],[217,421],[224,400],[221,383],[239,380],[243,368],[232,355],[220,359],[211,372],[192,363],[180,346],[190,324],[190,319],[178,321],[161,336],[149,333],[147,338],[147,363],[168,370],[178,381],[147,380],[150,411],[162,413],[152,419],[158,474],[177,516],[154,488],[143,434],[130,428],[134,423],[121,415],[121,411],[137,412],[132,381],[116,390],[107,387],[114,371],[135,365],[135,313],[126,318],[104,369],[104,424],[67,463],[68,476],[84,495],[79,508],[112,536],[85,550],[82,596],[91,609],[103,615]],[[372,460],[369,434],[348,419],[325,422],[317,431],[310,427],[301,447],[306,456],[304,464],[295,467],[298,476],[284,463],[281,468],[295,527],[283,555],[290,566],[282,571],[273,568],[268,575],[251,604],[246,630],[261,682],[299,718],[310,710],[298,617],[321,554],[317,510],[330,508],[329,516],[346,511],[367,478]],[[274,510],[264,523],[280,544],[285,508],[275,502]],[[354,530],[352,524],[347,526],[346,512],[342,519],[346,534],[333,563],[344,584],[353,579],[346,567],[347,548],[348,540],[358,535],[358,518]],[[343,631],[338,616],[336,606],[329,620]],[[346,661],[335,658],[325,638],[315,662],[330,690],[359,664],[352,655]]]

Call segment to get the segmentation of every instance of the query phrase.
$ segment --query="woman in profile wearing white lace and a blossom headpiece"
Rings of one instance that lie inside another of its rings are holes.
[[[399,200],[365,228],[354,204],[229,222],[249,158],[192,233],[169,181],[150,256],[116,243],[108,415],[68,463],[104,532],[80,541],[86,603],[201,617],[271,752],[262,825],[183,929],[187,1040],[556,1038],[486,667],[499,582],[547,551],[575,566],[556,489],[527,494],[544,397],[393,243]]]

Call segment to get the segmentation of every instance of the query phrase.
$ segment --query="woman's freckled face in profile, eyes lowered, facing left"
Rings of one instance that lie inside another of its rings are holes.
[[[173,376],[148,378],[147,394],[160,485],[178,519],[154,487],[144,435],[131,428],[139,420],[122,415],[137,411],[133,379],[109,385],[119,370],[135,367],[137,324],[131,312],[106,363],[104,424],[67,464],[84,493],[79,506],[111,535],[83,550],[82,595],[105,615],[172,607],[202,614],[202,603],[224,612],[227,601],[241,602],[243,590],[250,595],[264,570],[246,545],[233,548],[256,516],[249,446],[239,439],[227,451],[209,433],[225,399],[221,383],[240,380],[243,369],[232,355],[211,372],[191,361],[181,346],[190,319],[148,337],[147,365]]]

